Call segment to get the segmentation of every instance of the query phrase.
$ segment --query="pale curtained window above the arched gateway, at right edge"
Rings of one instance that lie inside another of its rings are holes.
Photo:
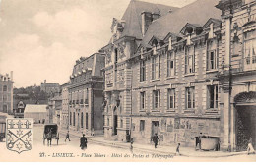
[[[256,30],[244,34],[245,69],[256,68]]]

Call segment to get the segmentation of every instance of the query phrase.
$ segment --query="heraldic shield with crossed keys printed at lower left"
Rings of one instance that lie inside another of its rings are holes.
[[[32,149],[32,119],[6,119],[6,147],[17,153]]]

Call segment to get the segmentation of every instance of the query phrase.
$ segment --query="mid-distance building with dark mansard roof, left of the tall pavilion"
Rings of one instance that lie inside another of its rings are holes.
[[[95,53],[76,61],[70,76],[69,130],[86,135],[103,134],[104,55]]]

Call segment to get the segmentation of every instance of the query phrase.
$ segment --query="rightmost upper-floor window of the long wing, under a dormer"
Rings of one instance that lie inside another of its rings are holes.
[[[210,40],[207,49],[207,70],[218,69],[218,48],[216,41]]]

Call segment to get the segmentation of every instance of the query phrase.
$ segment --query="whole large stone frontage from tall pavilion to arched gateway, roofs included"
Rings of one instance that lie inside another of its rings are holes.
[[[202,133],[244,150],[255,140],[255,2],[197,0],[165,15],[140,3],[113,20],[102,48],[105,138],[195,146]],[[126,18],[134,10],[138,25]]]

